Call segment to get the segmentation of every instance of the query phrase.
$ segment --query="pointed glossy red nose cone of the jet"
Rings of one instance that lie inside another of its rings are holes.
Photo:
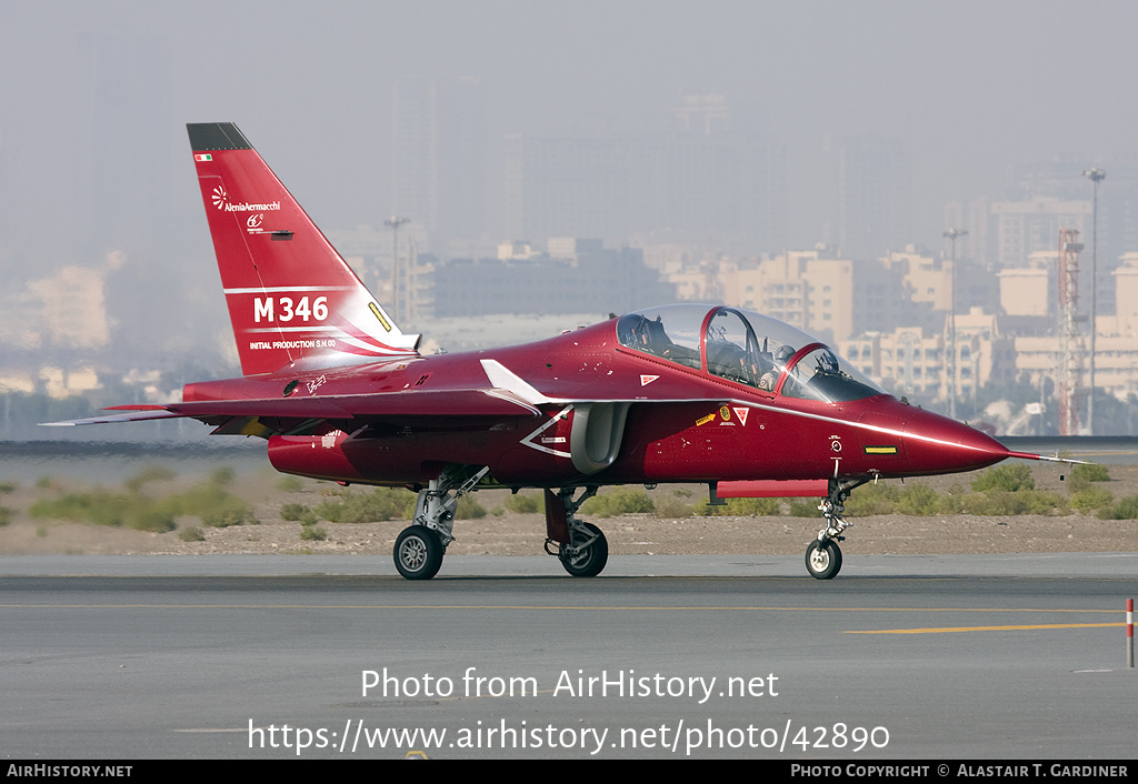
[[[905,423],[905,448],[914,468],[927,473],[974,471],[1012,454],[988,434],[920,410]]]

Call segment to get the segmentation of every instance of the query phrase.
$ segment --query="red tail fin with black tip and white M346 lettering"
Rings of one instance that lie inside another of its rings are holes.
[[[236,125],[187,130],[242,373],[415,354]]]

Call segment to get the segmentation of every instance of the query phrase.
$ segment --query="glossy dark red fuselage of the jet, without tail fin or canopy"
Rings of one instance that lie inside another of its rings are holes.
[[[554,402],[535,414],[471,393],[485,407],[479,418],[454,395],[490,387],[485,360]],[[642,376],[659,378],[644,385]],[[432,395],[438,406],[422,413]],[[615,320],[523,346],[201,382],[184,395],[256,399],[262,418],[271,415],[272,397],[311,398],[313,414],[327,420],[319,435],[270,439],[278,470],[361,484],[421,486],[448,463],[488,465],[502,485],[535,487],[890,478],[971,471],[1012,454],[979,430],[890,395],[789,398],[660,361],[621,346]],[[321,397],[335,397],[343,414],[316,407]],[[412,401],[409,410],[419,413],[401,413],[395,398]],[[587,477],[575,468],[567,454],[575,412],[559,399],[630,402],[619,456],[608,468]]]

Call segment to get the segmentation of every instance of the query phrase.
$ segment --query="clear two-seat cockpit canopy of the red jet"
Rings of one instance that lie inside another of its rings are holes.
[[[885,394],[828,346],[734,307],[667,305],[617,322],[622,346],[769,395],[838,403]]]

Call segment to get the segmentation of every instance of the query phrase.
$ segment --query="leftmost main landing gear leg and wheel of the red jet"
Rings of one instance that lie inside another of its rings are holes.
[[[454,542],[454,507],[489,472],[488,467],[447,468],[419,492],[414,523],[395,539],[395,568],[409,580],[429,580],[443,566],[446,547]]]

